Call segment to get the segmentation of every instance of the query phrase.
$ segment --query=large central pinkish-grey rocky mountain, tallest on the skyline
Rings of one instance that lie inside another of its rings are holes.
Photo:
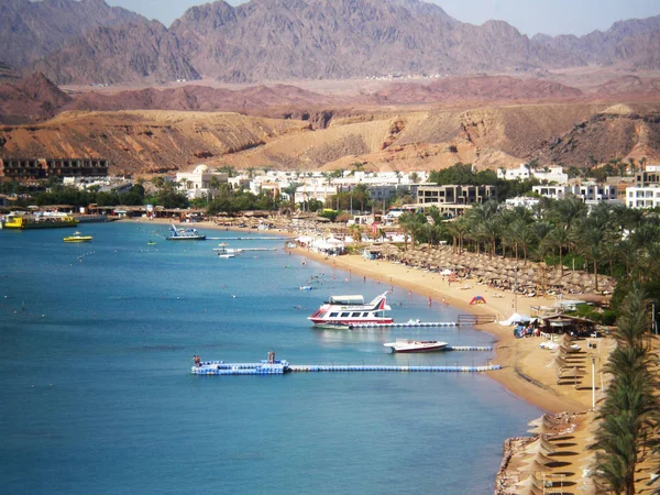
[[[501,21],[461,23],[420,0],[218,1],[170,26],[201,74],[230,81],[474,73],[563,57]]]

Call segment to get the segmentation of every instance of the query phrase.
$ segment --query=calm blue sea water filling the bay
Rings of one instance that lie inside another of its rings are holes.
[[[319,330],[330,295],[389,290],[396,321],[458,309],[306,260],[260,232],[167,226],[0,230],[0,486],[24,494],[491,494],[507,437],[541,411],[479,373],[197,376],[193,356],[480,365],[398,338],[491,345],[473,328]],[[150,241],[155,244],[150,245]],[[246,251],[220,258],[218,244]],[[309,285],[311,290],[300,290]]]

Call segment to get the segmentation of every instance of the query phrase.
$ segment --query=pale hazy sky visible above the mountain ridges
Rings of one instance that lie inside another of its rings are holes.
[[[106,0],[166,26],[193,6],[196,0]],[[649,18],[660,14],[660,0],[432,0],[452,18],[471,24],[491,19],[508,22],[529,36],[536,33],[576,34],[605,31],[616,21]],[[241,0],[229,0],[238,6]]]

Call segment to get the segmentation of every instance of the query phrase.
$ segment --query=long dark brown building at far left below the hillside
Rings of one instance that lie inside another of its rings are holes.
[[[50,177],[106,177],[103,158],[0,158],[0,177],[16,180]]]

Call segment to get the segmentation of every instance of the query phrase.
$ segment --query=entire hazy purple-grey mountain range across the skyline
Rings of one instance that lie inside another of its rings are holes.
[[[460,22],[422,0],[219,0],[188,9],[169,30],[103,0],[4,0],[0,22],[9,26],[3,62],[34,64],[57,84],[657,68],[660,52],[660,16],[529,38],[503,21]]]

